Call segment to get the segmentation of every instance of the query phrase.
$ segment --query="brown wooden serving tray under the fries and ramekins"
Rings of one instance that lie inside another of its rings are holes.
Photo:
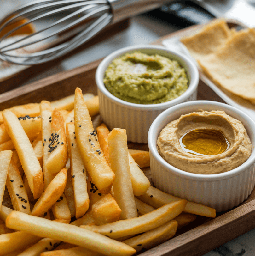
[[[231,24],[230,24],[231,25]],[[185,35],[195,27],[192,26],[173,34],[164,36],[154,42],[161,44],[167,38]],[[95,72],[101,60],[64,71],[37,82],[14,89],[0,95],[0,110],[28,102],[42,100],[57,100],[74,93],[78,86],[83,93],[97,94]],[[224,102],[211,88],[202,81],[198,86],[199,100],[213,100]],[[148,150],[147,144],[128,143],[132,149]],[[145,175],[151,180],[150,168],[143,169]],[[8,191],[6,189],[3,205],[11,207]],[[198,216],[187,227],[177,230],[174,238],[140,253],[141,256],[199,256],[219,247],[220,245],[255,228],[255,189],[252,194],[239,206],[226,212],[218,213],[215,219]]]

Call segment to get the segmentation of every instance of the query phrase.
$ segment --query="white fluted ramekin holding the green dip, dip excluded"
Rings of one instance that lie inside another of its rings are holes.
[[[113,96],[103,83],[105,70],[113,59],[125,55],[127,52],[143,52],[160,54],[177,60],[187,71],[189,86],[186,92],[178,98],[159,104],[135,104],[120,100]],[[96,70],[96,84],[99,96],[100,114],[104,123],[113,128],[125,128],[128,141],[147,143],[147,135],[153,120],[165,109],[185,101],[194,101],[197,98],[199,73],[194,63],[182,53],[173,52],[163,46],[137,45],[117,50],[102,60]]]

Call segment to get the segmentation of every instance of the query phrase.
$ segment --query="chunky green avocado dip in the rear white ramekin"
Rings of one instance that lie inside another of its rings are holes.
[[[183,94],[188,78],[176,60],[133,52],[113,60],[105,71],[104,84],[121,100],[157,104]]]

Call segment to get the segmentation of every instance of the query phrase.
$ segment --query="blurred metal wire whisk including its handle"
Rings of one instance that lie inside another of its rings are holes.
[[[0,38],[0,59],[15,64],[33,65],[58,58],[95,36],[110,23],[156,9],[170,0],[38,0],[4,17],[1,31],[20,19],[27,21]],[[56,20],[57,16],[57,20]],[[33,34],[4,40],[29,23],[51,24]],[[5,21],[5,22],[4,22]]]

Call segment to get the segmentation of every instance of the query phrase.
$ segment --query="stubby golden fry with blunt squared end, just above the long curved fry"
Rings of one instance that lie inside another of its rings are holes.
[[[117,202],[108,193],[91,205],[83,217],[73,221],[71,224],[76,226],[102,225],[119,220],[120,212]]]

